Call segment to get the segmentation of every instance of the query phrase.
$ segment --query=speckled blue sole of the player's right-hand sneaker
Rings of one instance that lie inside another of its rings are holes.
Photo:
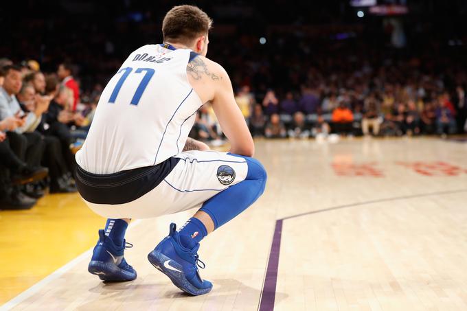
[[[212,286],[210,288],[205,289],[199,289],[194,287],[190,283],[190,281],[188,281],[185,278],[185,273],[180,272],[183,271],[183,267],[181,266],[181,264],[175,262],[174,260],[171,260],[166,255],[163,255],[163,253],[160,253],[158,251],[152,251],[148,254],[148,260],[152,264],[152,266],[154,266],[157,270],[167,275],[170,281],[172,281],[172,283],[174,284],[174,286],[180,288],[181,290],[183,290],[183,292],[186,292],[187,294],[190,294],[192,296],[199,296],[207,294],[212,289]],[[179,271],[166,268],[164,263],[168,260],[170,260],[170,266]]]

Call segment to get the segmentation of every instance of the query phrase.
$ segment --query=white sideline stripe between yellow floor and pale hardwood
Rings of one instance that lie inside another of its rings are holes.
[[[130,226],[128,227],[134,228],[140,223],[141,223],[141,220],[135,220],[134,222],[130,222]],[[34,294],[36,294],[39,290],[41,290],[51,281],[54,281],[58,279],[59,277],[61,277],[68,270],[73,268],[73,266],[76,266],[79,262],[81,262],[85,258],[89,259],[89,257],[91,256],[93,252],[93,248],[94,246],[91,247],[91,249],[88,249],[87,251],[79,255],[78,257],[76,257],[75,259],[71,260],[71,262],[68,262],[67,264],[65,264],[65,266],[61,266],[60,268],[58,268],[51,274],[47,275],[47,277],[41,279],[41,281],[38,281],[36,284],[31,286],[30,288],[27,288],[27,290],[25,290],[24,292],[21,292],[19,295],[12,298],[10,301],[7,301],[6,303],[4,303],[3,306],[0,306],[0,311],[10,310],[16,307],[17,305],[19,305],[19,303],[22,303],[26,299],[32,297]]]

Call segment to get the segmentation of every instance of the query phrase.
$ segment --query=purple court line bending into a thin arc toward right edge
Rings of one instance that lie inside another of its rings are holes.
[[[425,194],[413,194],[411,196],[394,196],[392,198],[381,198],[378,200],[369,200],[365,202],[353,203],[348,205],[339,205],[335,207],[329,207],[327,209],[318,209],[317,211],[308,211],[307,213],[297,214],[294,216],[284,217],[282,219],[276,220],[273,243],[271,244],[271,252],[269,253],[268,267],[266,268],[266,276],[264,277],[263,288],[260,297],[260,306],[258,306],[259,311],[270,311],[274,309],[275,303],[275,288],[277,285],[277,270],[279,268],[279,255],[280,255],[280,241],[282,237],[282,222],[291,218],[297,218],[301,216],[323,213],[325,211],[334,211],[335,209],[345,209],[348,207],[356,207],[361,205],[369,205],[372,203],[381,203],[394,200],[403,200],[407,198],[422,198],[424,196],[436,196],[440,194],[455,194],[459,192],[467,192],[467,189],[457,189],[451,191],[442,191],[442,192],[430,192]]]

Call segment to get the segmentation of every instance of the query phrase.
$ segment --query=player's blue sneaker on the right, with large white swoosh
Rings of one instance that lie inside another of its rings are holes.
[[[185,248],[180,242],[176,225],[172,223],[168,237],[148,254],[148,260],[157,270],[167,275],[176,287],[190,295],[203,295],[211,291],[212,284],[199,275],[198,266],[205,268],[205,264],[198,260],[198,249],[199,244],[193,249]]]

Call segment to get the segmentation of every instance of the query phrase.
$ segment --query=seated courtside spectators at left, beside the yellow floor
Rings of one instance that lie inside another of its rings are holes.
[[[73,65],[44,74],[38,62],[0,59],[0,209],[29,209],[48,190],[76,192],[74,151],[94,102],[83,104]]]

